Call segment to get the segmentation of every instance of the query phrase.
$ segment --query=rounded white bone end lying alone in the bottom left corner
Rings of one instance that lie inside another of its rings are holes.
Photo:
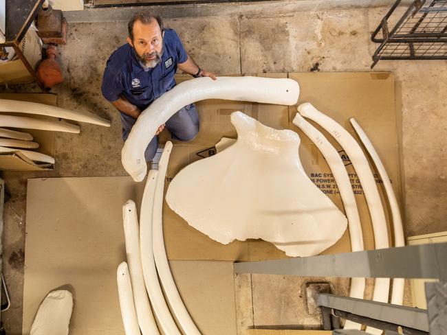
[[[68,335],[73,296],[67,290],[55,290],[43,299],[31,326],[30,335]]]

